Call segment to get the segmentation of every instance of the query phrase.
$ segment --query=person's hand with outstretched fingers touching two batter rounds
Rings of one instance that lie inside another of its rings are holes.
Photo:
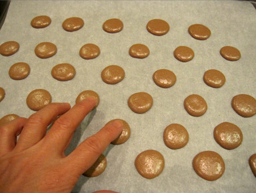
[[[71,192],[80,175],[122,131],[121,122],[107,124],[65,156],[74,131],[95,104],[92,97],[72,108],[68,103],[51,103],[29,119],[0,127],[0,192]]]

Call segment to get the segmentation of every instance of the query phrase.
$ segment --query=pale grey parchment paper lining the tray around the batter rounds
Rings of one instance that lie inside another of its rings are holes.
[[[38,15],[52,18],[50,26],[31,27],[31,19]],[[72,33],[63,30],[62,22],[69,17],[81,17],[84,27]],[[123,31],[103,31],[103,23],[110,18],[121,19]],[[169,23],[166,35],[157,37],[146,30],[147,22],[155,18]],[[46,89],[53,102],[72,105],[81,91],[94,90],[100,95],[100,104],[78,127],[66,152],[111,119],[126,120],[131,137],[124,144],[110,145],[104,152],[108,160],[104,173],[96,178],[81,176],[73,192],[255,192],[255,177],[248,159],[256,152],[256,119],[243,118],[231,108],[231,99],[237,94],[256,98],[255,20],[253,5],[239,1],[11,1],[0,31],[0,44],[17,41],[20,48],[10,57],[0,55],[0,86],[6,91],[0,103],[0,117],[33,114],[26,106],[26,97],[34,89]],[[187,29],[194,23],[206,25],[211,37],[206,41],[192,38]],[[56,44],[58,51],[51,58],[40,59],[34,48],[45,41]],[[78,53],[85,43],[99,46],[99,57],[82,59]],[[149,47],[151,53],[147,58],[129,56],[129,47],[135,43]],[[174,58],[173,51],[181,45],[194,50],[192,61],[182,63]],[[226,61],[220,56],[220,48],[227,45],[241,51],[239,61]],[[26,62],[31,68],[29,77],[21,81],[8,75],[10,66],[17,62]],[[76,77],[67,82],[52,78],[50,71],[58,63],[72,64]],[[122,82],[107,85],[101,80],[101,71],[108,65],[123,67]],[[156,86],[152,75],[158,69],[173,71],[176,84],[169,89]],[[204,71],[208,69],[225,74],[223,87],[214,89],[203,82]],[[153,106],[145,114],[135,114],[127,105],[129,96],[140,91],[153,97]],[[206,100],[206,114],[188,115],[183,100],[190,94],[199,94]],[[225,150],[215,142],[214,127],[222,122],[241,128],[241,146]],[[165,146],[163,131],[171,123],[187,128],[190,140],[184,148],[171,150]],[[136,156],[148,149],[161,152],[166,161],[162,174],[151,180],[140,176],[134,166]],[[194,156],[206,150],[218,152],[225,160],[225,173],[214,182],[200,178],[192,168]]]

